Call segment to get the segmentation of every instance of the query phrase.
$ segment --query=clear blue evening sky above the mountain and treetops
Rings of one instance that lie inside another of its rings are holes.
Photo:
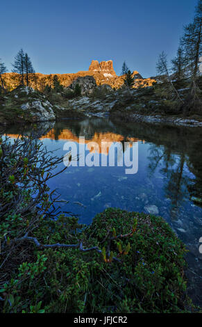
[[[155,76],[158,55],[174,58],[183,26],[197,0],[1,1],[0,58],[11,72],[24,49],[36,72],[88,70],[92,60],[124,61],[143,77]]]

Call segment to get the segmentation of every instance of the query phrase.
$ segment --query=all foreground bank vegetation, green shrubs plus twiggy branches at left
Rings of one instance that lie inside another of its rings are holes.
[[[1,312],[196,310],[162,218],[110,208],[81,225],[47,186],[62,159],[36,134],[0,141]]]

